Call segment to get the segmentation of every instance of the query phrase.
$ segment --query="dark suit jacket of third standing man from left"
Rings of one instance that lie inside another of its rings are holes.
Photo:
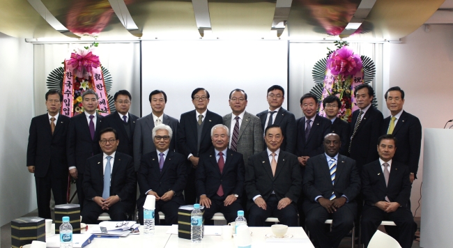
[[[124,121],[121,119],[118,111],[114,111],[112,114],[109,114],[102,119],[100,130],[103,130],[106,127],[112,127],[116,130],[118,139],[120,140],[120,144],[118,144],[116,151],[132,157],[134,156],[134,130],[137,119],[137,116],[129,113],[128,123],[130,127],[130,137],[128,137],[128,133],[124,127]]]

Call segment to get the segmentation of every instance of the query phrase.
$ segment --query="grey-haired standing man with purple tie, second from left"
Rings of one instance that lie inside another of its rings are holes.
[[[80,210],[83,209],[85,199],[82,184],[86,160],[100,153],[99,130],[102,116],[96,113],[98,93],[90,89],[82,93],[82,106],[84,114],[70,119],[67,144],[69,173],[76,180]]]

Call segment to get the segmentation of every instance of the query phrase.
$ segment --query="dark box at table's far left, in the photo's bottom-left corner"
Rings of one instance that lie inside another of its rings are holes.
[[[45,242],[45,219],[22,217],[11,221],[11,247],[19,248],[33,240]]]

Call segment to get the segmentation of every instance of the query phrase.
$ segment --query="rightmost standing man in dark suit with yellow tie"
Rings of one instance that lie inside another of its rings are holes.
[[[398,150],[393,159],[409,166],[410,183],[413,183],[422,148],[422,124],[416,116],[403,110],[404,91],[398,86],[388,89],[385,102],[392,116],[384,119],[381,134],[392,134],[398,139]]]

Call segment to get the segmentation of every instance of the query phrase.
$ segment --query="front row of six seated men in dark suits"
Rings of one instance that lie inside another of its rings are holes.
[[[143,155],[137,173],[132,157],[116,152],[119,140],[116,131],[100,131],[102,154],[87,162],[84,178],[86,201],[82,220],[96,223],[102,212],[115,221],[123,221],[133,212],[135,183],[140,196],[137,200],[139,220],[143,224],[143,205],[146,195],[156,197],[155,212],[163,212],[167,224],[178,223],[178,208],[184,205],[183,190],[187,182],[185,157],[169,150],[171,128],[161,124],[153,128],[156,151]],[[215,212],[222,212],[227,222],[233,222],[238,210],[243,210],[241,197],[247,197],[249,226],[263,226],[268,217],[297,226],[297,201],[302,203],[308,231],[318,247],[338,247],[341,238],[351,231],[357,218],[355,198],[364,197],[362,212],[362,241],[368,245],[382,220],[397,224],[396,238],[401,247],[411,247],[416,224],[408,208],[410,180],[408,166],[392,162],[396,139],[383,135],[378,139],[379,160],[363,167],[362,182],[355,160],[339,155],[338,134],[324,137],[325,153],[307,160],[305,174],[300,178],[300,165],[295,155],[280,150],[284,139],[278,125],[266,127],[264,140],[267,149],[249,157],[244,165],[243,155],[228,148],[229,129],[218,124],[211,129],[214,148],[200,156],[196,188],[199,202],[205,206],[206,224]],[[391,175],[391,176],[390,176]],[[102,178],[102,180],[101,180]],[[246,196],[243,195],[245,188]],[[131,211],[132,209],[132,211]],[[159,223],[159,215],[155,215]],[[331,231],[324,222],[333,219]]]

